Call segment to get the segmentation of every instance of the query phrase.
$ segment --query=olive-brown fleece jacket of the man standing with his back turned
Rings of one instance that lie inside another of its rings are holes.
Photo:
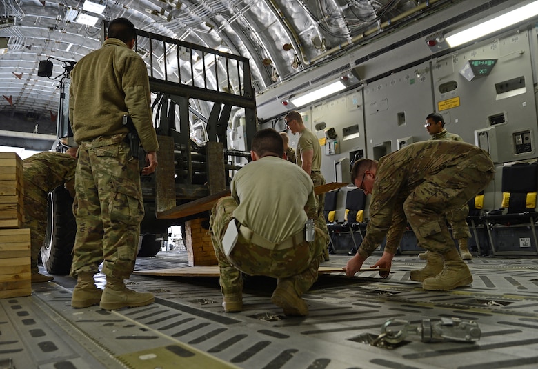
[[[99,83],[97,83],[99,81]],[[77,143],[127,133],[130,115],[146,152],[157,151],[146,63],[119,39],[83,57],[71,72],[69,119]]]

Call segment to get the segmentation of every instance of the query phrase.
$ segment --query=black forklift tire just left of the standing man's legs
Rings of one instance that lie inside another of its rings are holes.
[[[71,269],[71,252],[77,234],[72,205],[73,198],[63,186],[48,194],[47,230],[41,247],[41,261],[51,275],[68,275]]]

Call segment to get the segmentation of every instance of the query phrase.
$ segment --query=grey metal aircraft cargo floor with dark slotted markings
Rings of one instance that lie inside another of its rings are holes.
[[[266,277],[246,278],[243,312],[224,313],[217,277],[132,275],[128,286],[154,292],[155,303],[108,312],[71,308],[75,281],[57,276],[32,285],[30,297],[0,300],[0,368],[537,368],[538,258],[467,262],[472,286],[448,292],[410,281],[425,263],[415,255],[396,256],[387,279],[321,275],[304,318],[272,305],[275,280]],[[139,258],[136,270],[178,266],[188,268],[184,251]],[[369,344],[387,319],[452,317],[476,321],[479,341],[426,343],[409,332],[394,347]]]

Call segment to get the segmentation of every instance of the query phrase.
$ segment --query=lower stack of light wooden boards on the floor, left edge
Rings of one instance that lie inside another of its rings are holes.
[[[0,230],[0,299],[32,293],[30,228]]]

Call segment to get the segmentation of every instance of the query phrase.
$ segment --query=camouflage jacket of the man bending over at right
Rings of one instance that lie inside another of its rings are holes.
[[[370,256],[385,235],[385,250],[394,254],[406,230],[406,215],[403,212],[406,198],[428,177],[446,168],[456,167],[476,155],[489,157],[487,152],[470,143],[430,140],[413,143],[382,157],[377,164],[370,221],[359,254]],[[477,169],[484,172],[494,170],[492,166],[486,168],[482,164]]]

